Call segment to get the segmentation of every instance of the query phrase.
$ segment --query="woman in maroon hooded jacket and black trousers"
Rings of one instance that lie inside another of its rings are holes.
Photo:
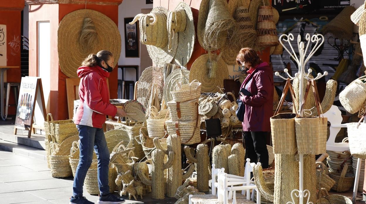
[[[273,72],[268,63],[262,62],[256,51],[249,47],[240,50],[236,61],[248,74],[240,87],[240,100],[245,105],[245,157],[251,162],[259,159],[265,169],[268,168],[266,138],[271,130],[269,118],[273,111]]]

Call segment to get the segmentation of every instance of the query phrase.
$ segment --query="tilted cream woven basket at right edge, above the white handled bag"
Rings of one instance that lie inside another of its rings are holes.
[[[365,80],[366,76],[362,76],[355,81],[352,81],[351,84],[346,86],[346,88],[344,88],[344,90],[339,94],[339,101],[344,109],[351,114],[358,112],[366,100]]]

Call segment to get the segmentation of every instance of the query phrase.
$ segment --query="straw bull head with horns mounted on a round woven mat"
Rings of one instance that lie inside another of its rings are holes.
[[[170,63],[177,51],[178,38],[173,38],[168,43],[167,16],[168,9],[164,7],[155,7],[150,14],[138,14],[130,23],[133,24],[139,20],[140,42],[147,47],[153,64],[163,67],[164,63]]]

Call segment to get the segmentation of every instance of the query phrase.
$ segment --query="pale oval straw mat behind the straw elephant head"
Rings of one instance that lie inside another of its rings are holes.
[[[184,3],[180,2],[175,10],[184,11],[186,14],[186,27],[184,31],[178,32],[176,36],[178,36],[178,49],[172,61],[175,65],[186,66],[188,61],[191,59],[191,55],[193,53],[194,46],[194,23],[193,23],[193,14],[191,7]],[[173,19],[172,19],[173,20]],[[168,24],[172,24],[173,22],[167,22]],[[169,26],[168,26],[169,32]]]

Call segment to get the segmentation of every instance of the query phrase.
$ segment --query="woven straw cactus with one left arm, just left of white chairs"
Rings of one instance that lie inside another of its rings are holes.
[[[197,145],[196,157],[193,157],[188,146],[184,147],[184,152],[188,162],[195,163],[197,165],[197,188],[200,192],[207,192],[209,190],[209,162],[208,146],[204,144]]]

